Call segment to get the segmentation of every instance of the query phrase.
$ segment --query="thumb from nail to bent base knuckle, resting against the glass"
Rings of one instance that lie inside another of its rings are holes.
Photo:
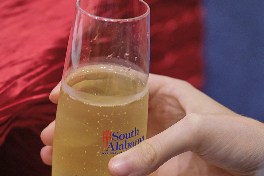
[[[199,140],[193,139],[198,127],[190,120],[193,118],[186,116],[156,136],[114,156],[108,163],[110,173],[113,176],[148,175],[172,157],[193,149]]]

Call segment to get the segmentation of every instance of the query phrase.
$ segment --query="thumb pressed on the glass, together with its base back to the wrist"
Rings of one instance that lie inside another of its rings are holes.
[[[240,115],[189,114],[156,136],[114,156],[113,176],[145,176],[172,157],[192,151],[233,174],[251,175],[263,168],[264,124]],[[257,150],[254,150],[257,149]]]

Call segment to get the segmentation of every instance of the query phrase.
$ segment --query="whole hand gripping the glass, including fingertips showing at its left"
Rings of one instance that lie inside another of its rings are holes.
[[[149,77],[147,140],[114,156],[114,176],[263,175],[264,124],[230,111],[189,83]],[[58,99],[58,90],[50,96]],[[54,122],[41,138],[52,145]],[[41,157],[51,164],[52,147]]]

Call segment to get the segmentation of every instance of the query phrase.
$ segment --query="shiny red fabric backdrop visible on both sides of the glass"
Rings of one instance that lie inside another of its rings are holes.
[[[0,1],[0,175],[51,175],[41,131],[55,119],[49,93],[61,79],[76,0]],[[202,85],[198,0],[146,0],[150,71]]]

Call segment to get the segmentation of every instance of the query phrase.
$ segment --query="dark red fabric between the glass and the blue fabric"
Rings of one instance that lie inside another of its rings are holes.
[[[203,84],[198,0],[145,0],[150,6],[150,72]]]

